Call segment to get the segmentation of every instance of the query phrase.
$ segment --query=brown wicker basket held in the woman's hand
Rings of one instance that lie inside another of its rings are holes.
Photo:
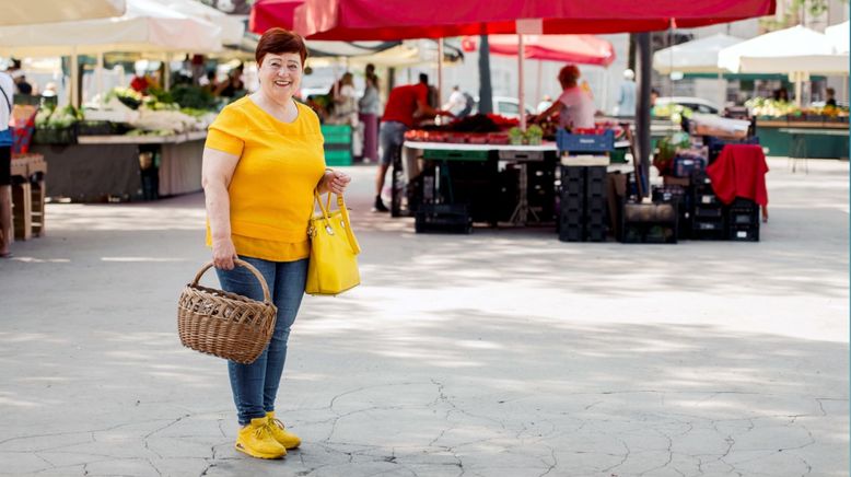
[[[249,364],[269,344],[278,310],[271,302],[263,275],[246,261],[235,259],[234,263],[257,277],[263,286],[264,301],[199,286],[198,280],[213,265],[209,263],[180,293],[177,331],[187,348]]]

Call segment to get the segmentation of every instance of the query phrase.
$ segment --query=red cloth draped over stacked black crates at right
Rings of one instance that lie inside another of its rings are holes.
[[[707,167],[712,188],[724,203],[744,197],[760,206],[768,205],[767,172],[766,155],[758,144],[724,146],[718,160]]]

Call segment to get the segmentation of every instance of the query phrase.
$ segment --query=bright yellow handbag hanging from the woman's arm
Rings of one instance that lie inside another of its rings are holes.
[[[322,213],[311,219],[307,234],[311,237],[311,261],[307,266],[307,294],[336,295],[351,290],[361,282],[358,272],[358,254],[361,247],[349,222],[349,210],[342,196],[337,196],[337,209],[330,211],[331,195],[323,203],[314,190]]]

